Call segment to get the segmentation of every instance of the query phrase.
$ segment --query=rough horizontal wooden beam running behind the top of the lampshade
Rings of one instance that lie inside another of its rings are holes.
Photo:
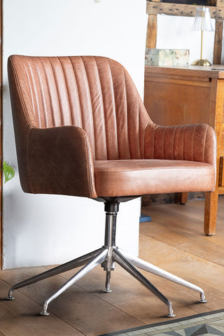
[[[211,18],[224,20],[224,7],[207,6],[210,8]],[[146,3],[146,13],[157,15],[177,15],[177,16],[195,16],[195,5],[186,5],[183,3],[165,3],[165,2],[152,2]]]

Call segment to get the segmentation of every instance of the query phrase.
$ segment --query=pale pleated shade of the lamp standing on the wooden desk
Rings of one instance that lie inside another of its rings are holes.
[[[214,31],[211,25],[211,15],[209,7],[196,7],[195,21],[191,30]]]

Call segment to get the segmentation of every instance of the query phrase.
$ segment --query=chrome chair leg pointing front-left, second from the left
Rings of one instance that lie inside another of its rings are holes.
[[[56,297],[61,295],[64,292],[64,290],[72,286],[74,283],[76,283],[76,281],[80,280],[83,276],[92,271],[94,267],[97,267],[97,265],[101,264],[106,259],[107,252],[108,252],[107,248],[102,248],[102,251],[97,253],[97,255],[95,255],[94,258],[90,260],[90,262],[87,262],[87,264],[82,269],[80,269],[80,271],[78,271],[75,275],[73,275],[71,279],[66,281],[66,283],[64,283],[64,285],[60,287],[54,294],[48,297],[48,299],[45,300],[45,303],[43,304],[43,311],[41,311],[40,314],[49,315],[48,304],[52,302],[52,300],[55,300]]]

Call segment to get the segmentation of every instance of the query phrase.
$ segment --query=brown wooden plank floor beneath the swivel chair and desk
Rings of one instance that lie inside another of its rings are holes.
[[[144,207],[151,223],[141,223],[139,256],[204,288],[199,294],[176,283],[146,274],[173,302],[176,318],[224,308],[224,197],[218,201],[216,235],[203,235],[204,202],[181,206]],[[66,272],[15,291],[10,286],[49,267],[0,271],[0,336],[100,335],[139,325],[167,321],[167,307],[119,266],[112,274],[113,293],[104,293],[104,272],[97,267],[49,305],[50,316],[39,316],[45,297],[73,275]]]

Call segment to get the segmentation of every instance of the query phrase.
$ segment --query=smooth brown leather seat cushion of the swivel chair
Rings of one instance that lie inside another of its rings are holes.
[[[183,160],[97,160],[94,162],[98,196],[213,191],[214,166]]]

